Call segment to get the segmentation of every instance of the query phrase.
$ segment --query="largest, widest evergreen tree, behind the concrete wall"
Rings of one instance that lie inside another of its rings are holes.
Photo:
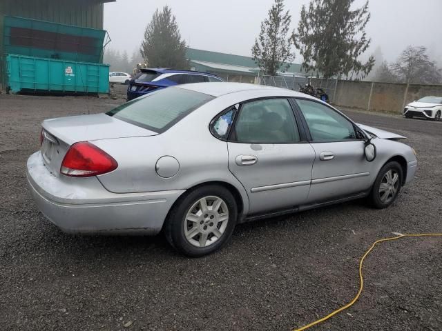
[[[296,48],[304,57],[302,68],[317,70],[324,77],[363,78],[372,70],[374,57],[366,63],[358,57],[367,50],[371,39],[365,26],[370,19],[368,1],[352,10],[354,0],[311,0],[302,6],[298,33],[293,35]]]

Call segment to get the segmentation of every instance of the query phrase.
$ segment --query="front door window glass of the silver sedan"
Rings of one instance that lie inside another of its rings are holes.
[[[356,139],[353,123],[322,103],[296,100],[309,127],[312,141],[345,141]]]

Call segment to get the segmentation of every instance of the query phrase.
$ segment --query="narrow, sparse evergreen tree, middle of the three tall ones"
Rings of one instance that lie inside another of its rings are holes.
[[[295,56],[291,52],[291,37],[287,37],[291,22],[289,10],[284,12],[284,0],[275,0],[269,17],[262,21],[261,32],[251,49],[253,60],[265,74],[285,71]]]

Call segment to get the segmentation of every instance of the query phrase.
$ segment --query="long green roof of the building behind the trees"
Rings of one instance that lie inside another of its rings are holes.
[[[251,57],[242,55],[212,52],[210,50],[197,50],[195,48],[187,49],[187,58],[191,61],[203,61],[207,63],[218,63],[229,66],[240,66],[244,68],[257,68],[255,61]],[[298,63],[290,63],[287,73],[302,72]]]

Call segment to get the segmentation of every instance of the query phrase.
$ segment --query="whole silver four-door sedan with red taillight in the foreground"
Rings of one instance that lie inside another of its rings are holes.
[[[44,121],[27,177],[61,230],[163,230],[197,257],[245,221],[363,197],[386,208],[416,170],[403,138],[291,90],[187,84]]]

